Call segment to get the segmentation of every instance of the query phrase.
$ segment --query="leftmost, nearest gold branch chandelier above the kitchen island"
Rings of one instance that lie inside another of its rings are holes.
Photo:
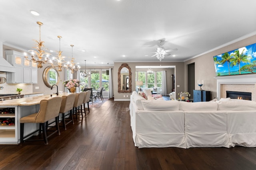
[[[31,60],[28,59],[28,56],[26,53],[24,53],[25,55],[24,57],[28,61],[38,63],[37,67],[42,68],[43,67],[42,64],[49,63],[48,60],[49,60],[50,53],[46,53],[44,51],[44,41],[41,41],[41,26],[43,25],[43,23],[39,21],[37,21],[36,23],[39,25],[39,41],[33,39],[37,44],[36,44],[36,47],[32,47],[32,48],[36,49],[37,51],[29,50],[32,52]]]

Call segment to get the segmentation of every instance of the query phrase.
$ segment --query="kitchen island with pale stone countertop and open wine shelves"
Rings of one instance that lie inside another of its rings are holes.
[[[68,94],[70,93],[63,93],[62,95]],[[20,118],[38,112],[40,101],[54,96],[56,95],[0,101],[0,145],[18,145],[20,143]],[[38,124],[26,123],[24,135],[36,129],[39,129]]]

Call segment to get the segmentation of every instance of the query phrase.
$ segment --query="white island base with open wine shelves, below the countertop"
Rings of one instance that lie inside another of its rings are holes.
[[[20,143],[20,118],[36,113],[39,109],[39,104],[31,106],[0,106],[0,145],[18,145]],[[10,125],[6,121],[14,121],[15,123],[13,122]],[[38,128],[39,125],[36,123],[25,123],[24,135],[28,135]]]

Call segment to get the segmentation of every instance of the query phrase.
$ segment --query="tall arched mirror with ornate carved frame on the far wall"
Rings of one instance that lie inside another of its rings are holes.
[[[123,63],[118,69],[118,93],[132,92],[132,71],[128,64]]]

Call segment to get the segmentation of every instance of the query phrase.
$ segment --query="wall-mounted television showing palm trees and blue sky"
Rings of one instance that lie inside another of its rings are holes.
[[[256,43],[213,57],[216,76],[256,73]]]

